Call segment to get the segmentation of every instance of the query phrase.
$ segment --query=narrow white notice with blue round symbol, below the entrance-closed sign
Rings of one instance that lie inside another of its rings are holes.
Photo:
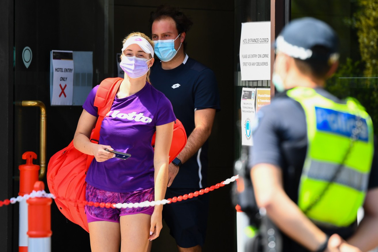
[[[240,108],[242,110],[242,145],[253,145],[252,121],[255,117],[256,88],[243,88]]]

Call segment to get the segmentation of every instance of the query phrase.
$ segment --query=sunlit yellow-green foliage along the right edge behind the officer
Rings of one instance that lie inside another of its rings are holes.
[[[357,11],[345,24],[356,29],[361,61],[347,58],[327,80],[326,89],[339,98],[355,97],[366,108],[378,133],[378,0],[356,0]],[[352,50],[354,48],[351,48]]]

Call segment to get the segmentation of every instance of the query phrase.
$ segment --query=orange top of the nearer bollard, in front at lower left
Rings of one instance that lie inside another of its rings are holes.
[[[45,184],[37,181],[35,191],[45,190]],[[29,198],[28,203],[28,236],[29,238],[51,237],[51,198]]]

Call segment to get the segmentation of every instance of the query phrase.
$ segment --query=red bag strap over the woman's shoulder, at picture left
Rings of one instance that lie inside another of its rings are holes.
[[[96,126],[91,134],[90,141],[98,144],[100,139],[100,129],[102,120],[106,116],[106,114],[110,111],[110,108],[112,107],[114,97],[117,94],[119,85],[121,85],[122,78],[116,77],[116,78],[107,78],[103,80],[96,92],[95,107],[98,108],[98,118],[96,122]],[[91,164],[94,156],[88,155],[87,158],[87,170],[89,165]],[[85,172],[86,174],[87,172]]]

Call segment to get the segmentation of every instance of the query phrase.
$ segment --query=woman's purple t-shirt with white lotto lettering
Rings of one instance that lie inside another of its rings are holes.
[[[94,87],[83,108],[97,117],[94,107]],[[154,186],[152,135],[156,126],[176,120],[170,101],[149,83],[137,93],[119,99],[115,97],[110,112],[101,124],[99,144],[131,154],[123,160],[111,158],[105,162],[93,159],[85,181],[93,187],[110,192],[133,192]]]

